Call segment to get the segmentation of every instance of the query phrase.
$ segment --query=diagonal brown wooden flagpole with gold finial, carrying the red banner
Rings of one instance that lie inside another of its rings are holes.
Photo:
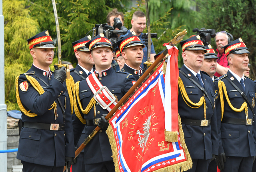
[[[170,44],[170,46],[175,46],[176,44],[178,44],[182,38],[187,34],[186,29],[184,29],[182,32],[179,32],[174,38],[173,40],[170,40],[170,42],[168,42]],[[110,119],[115,112],[118,110],[119,107],[122,106],[122,104],[126,101],[126,99],[128,99],[130,97],[130,95],[134,92],[134,90],[140,86],[140,84],[144,81],[144,79],[148,76],[148,74],[150,74],[150,72],[152,70],[154,70],[154,68],[158,65],[159,62],[161,62],[161,60],[164,59],[164,57],[166,56],[166,54],[168,53],[167,48],[164,50],[164,52],[156,59],[156,61],[154,61],[154,63],[144,72],[144,74],[139,78],[138,81],[135,82],[135,84],[130,88],[130,90],[128,90],[128,92],[121,98],[121,100],[116,104],[116,106],[114,106],[114,108],[107,114],[107,116],[105,117],[106,120]],[[84,142],[81,144],[81,146],[79,146],[79,148],[76,150],[75,152],[75,158],[80,154],[80,152],[82,152],[82,150],[85,148],[85,146],[92,140],[92,138],[98,133],[98,131],[100,131],[101,128],[100,127],[96,127],[92,133],[88,136],[88,138],[86,138],[84,140]],[[64,166],[64,171],[66,170],[66,166]]]

